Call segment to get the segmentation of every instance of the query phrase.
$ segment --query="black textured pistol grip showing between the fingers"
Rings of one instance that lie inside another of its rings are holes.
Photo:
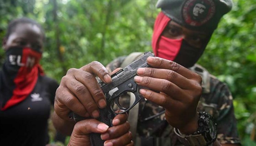
[[[112,127],[112,119],[114,118],[115,114],[111,111],[110,106],[107,105],[106,108],[99,109],[100,117],[99,121],[102,123],[107,124],[109,127]],[[90,133],[90,141],[92,146],[103,146],[104,142],[100,138],[100,133]]]

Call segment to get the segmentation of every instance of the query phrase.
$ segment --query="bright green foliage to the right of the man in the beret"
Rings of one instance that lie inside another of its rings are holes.
[[[251,146],[255,142],[248,137],[256,124],[256,1],[233,2],[199,63],[229,85],[240,136]]]

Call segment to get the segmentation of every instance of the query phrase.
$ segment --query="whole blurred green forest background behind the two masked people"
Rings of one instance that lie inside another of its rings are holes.
[[[0,40],[12,19],[35,19],[47,37],[41,65],[48,76],[60,81],[71,67],[95,60],[106,65],[134,51],[151,51],[153,25],[160,11],[156,1],[0,0]],[[256,1],[233,3],[199,64],[229,85],[242,143],[256,146]],[[0,49],[0,65],[3,61]]]

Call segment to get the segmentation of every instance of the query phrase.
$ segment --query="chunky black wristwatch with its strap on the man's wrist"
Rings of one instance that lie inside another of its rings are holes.
[[[178,139],[185,146],[209,146],[216,141],[217,130],[214,118],[207,112],[198,113],[198,128],[191,135],[182,134],[179,129],[174,128],[174,132],[178,135]]]

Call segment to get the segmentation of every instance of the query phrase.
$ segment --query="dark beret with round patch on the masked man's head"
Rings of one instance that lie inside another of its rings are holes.
[[[174,22],[193,30],[214,31],[232,8],[231,0],[158,0],[157,8]]]

